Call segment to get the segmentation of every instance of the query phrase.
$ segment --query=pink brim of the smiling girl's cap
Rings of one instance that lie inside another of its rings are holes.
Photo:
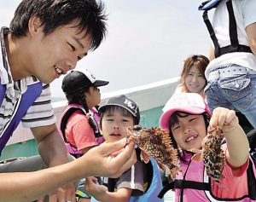
[[[165,113],[163,113],[160,117],[160,127],[162,129],[169,129],[169,119],[172,116],[172,113],[175,112],[183,112],[183,113],[191,113],[191,114],[201,114],[206,113],[205,109],[199,109],[198,107],[190,107],[189,109],[186,109],[184,107],[175,109],[167,110]]]

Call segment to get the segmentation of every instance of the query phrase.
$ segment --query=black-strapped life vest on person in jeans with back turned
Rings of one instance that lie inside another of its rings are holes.
[[[215,32],[212,28],[212,24],[208,18],[208,10],[216,8],[218,3],[221,0],[209,0],[207,2],[201,3],[201,6],[198,8],[199,10],[204,10],[203,12],[203,20],[207,26],[207,30],[212,38],[212,43],[214,44],[214,55],[215,58],[219,57],[220,55],[224,55],[227,53],[234,53],[234,52],[247,52],[253,53],[250,47],[246,45],[239,44],[238,37],[237,37],[237,26],[236,26],[236,18],[234,14],[234,9],[232,5],[232,0],[228,0],[226,3],[229,18],[230,18],[230,45],[225,47],[219,47],[218,39],[216,38]]]

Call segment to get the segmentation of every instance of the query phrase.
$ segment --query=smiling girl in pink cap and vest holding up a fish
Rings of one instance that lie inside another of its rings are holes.
[[[176,201],[256,201],[255,165],[235,111],[217,107],[211,117],[201,95],[180,93],[167,101],[160,126],[182,170],[160,196],[175,188]]]

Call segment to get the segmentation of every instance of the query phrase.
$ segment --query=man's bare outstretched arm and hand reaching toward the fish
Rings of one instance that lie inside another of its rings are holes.
[[[102,144],[90,149],[88,153],[73,162],[45,170],[1,173],[0,201],[27,202],[39,199],[46,193],[84,176],[118,177],[137,160],[134,143],[130,142],[126,147],[125,144],[125,139]],[[119,150],[122,152],[113,157],[112,153]],[[73,199],[69,200],[75,202]]]

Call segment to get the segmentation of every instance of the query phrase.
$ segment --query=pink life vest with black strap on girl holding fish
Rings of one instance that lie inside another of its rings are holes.
[[[190,155],[189,153],[185,155]],[[220,199],[213,195],[211,188],[211,178],[207,176],[207,171],[203,162],[189,161],[189,164],[182,163],[183,175],[179,174],[174,182],[166,185],[159,194],[162,198],[164,194],[175,189],[176,201],[256,201],[256,159],[250,156],[247,168],[247,195],[239,196],[238,199]],[[193,180],[192,180],[193,179]],[[177,190],[178,189],[178,190]]]

